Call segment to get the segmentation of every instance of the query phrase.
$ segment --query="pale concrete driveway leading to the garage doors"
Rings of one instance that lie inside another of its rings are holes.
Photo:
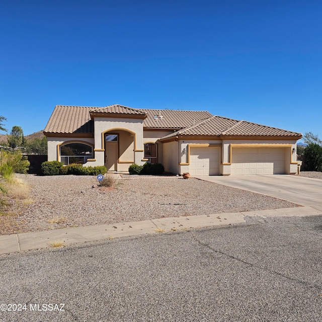
[[[320,179],[290,175],[200,176],[196,178],[322,210],[322,180]]]

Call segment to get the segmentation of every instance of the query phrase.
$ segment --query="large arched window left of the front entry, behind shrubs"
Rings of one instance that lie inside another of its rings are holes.
[[[93,148],[84,143],[67,143],[60,146],[60,160],[68,166],[72,163],[85,164],[93,158]]]

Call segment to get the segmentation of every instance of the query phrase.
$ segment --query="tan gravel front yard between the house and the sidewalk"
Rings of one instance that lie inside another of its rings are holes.
[[[160,217],[295,207],[280,199],[194,178],[121,179],[116,189],[99,187],[96,177],[18,175],[32,186],[11,231],[138,221]]]

